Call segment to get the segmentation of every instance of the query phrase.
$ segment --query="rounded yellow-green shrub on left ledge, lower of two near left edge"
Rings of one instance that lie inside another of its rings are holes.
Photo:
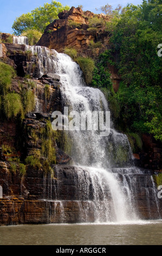
[[[23,106],[21,102],[21,97],[17,93],[8,93],[4,96],[3,108],[5,116],[9,118],[15,118],[18,114],[23,118]]]

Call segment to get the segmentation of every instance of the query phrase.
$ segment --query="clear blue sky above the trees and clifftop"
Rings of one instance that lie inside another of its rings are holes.
[[[1,15],[0,15],[0,32],[12,33],[12,24],[16,17],[23,13],[28,13],[31,10],[43,5],[44,3],[51,3],[51,0],[0,0],[1,3]],[[127,3],[133,3],[135,5],[141,4],[142,0],[63,0],[57,1],[63,5],[69,5],[70,7],[77,7],[83,5],[83,10],[89,10],[96,13],[95,8],[100,8],[102,5],[111,4],[115,8],[118,4],[122,7]]]

